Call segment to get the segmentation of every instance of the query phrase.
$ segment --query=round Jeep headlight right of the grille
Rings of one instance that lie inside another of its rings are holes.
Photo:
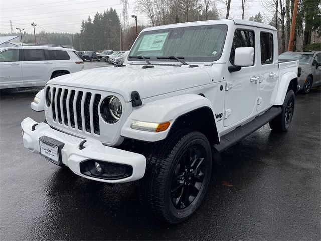
[[[108,123],[115,123],[121,117],[122,105],[116,96],[108,96],[100,105],[100,113]]]

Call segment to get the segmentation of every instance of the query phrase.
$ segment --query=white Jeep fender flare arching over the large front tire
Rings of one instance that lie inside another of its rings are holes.
[[[134,108],[121,129],[121,136],[147,142],[163,140],[180,116],[203,107],[207,107],[213,114],[212,116],[214,116],[211,102],[197,94],[173,96],[143,104],[138,108]],[[170,126],[161,132],[137,130],[131,127],[133,121],[153,124],[170,122]],[[214,117],[213,122],[215,125]]]

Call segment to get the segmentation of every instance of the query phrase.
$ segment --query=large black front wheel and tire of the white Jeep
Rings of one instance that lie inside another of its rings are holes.
[[[145,176],[138,182],[140,200],[158,218],[182,222],[203,201],[211,169],[207,138],[200,132],[178,130],[146,155]]]

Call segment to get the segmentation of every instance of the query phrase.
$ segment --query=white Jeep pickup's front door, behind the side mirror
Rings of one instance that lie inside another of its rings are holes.
[[[258,92],[258,48],[255,28],[236,29],[231,47],[230,63],[234,65],[235,49],[253,47],[255,56],[252,66],[242,67],[240,71],[226,71],[224,126],[228,127],[250,117],[256,108]]]

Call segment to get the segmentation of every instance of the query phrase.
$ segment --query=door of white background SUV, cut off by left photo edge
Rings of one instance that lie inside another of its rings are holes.
[[[0,88],[23,87],[21,49],[7,49],[0,53]]]

